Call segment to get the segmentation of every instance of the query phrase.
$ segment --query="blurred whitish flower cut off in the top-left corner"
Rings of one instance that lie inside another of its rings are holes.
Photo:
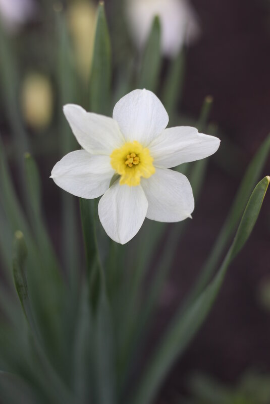
[[[29,21],[36,12],[33,0],[0,0],[0,17],[4,27],[16,31]]]

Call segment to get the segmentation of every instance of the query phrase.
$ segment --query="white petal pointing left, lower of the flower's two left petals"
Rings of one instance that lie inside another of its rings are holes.
[[[52,168],[51,178],[62,189],[81,198],[97,198],[109,188],[114,170],[109,156],[76,150]]]

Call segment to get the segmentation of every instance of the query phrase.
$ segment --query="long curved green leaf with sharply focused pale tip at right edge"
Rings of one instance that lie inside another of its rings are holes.
[[[132,404],[148,404],[152,402],[167,372],[203,323],[219,293],[230,263],[247,241],[255,225],[269,180],[269,177],[265,177],[255,187],[243,214],[234,242],[217,275],[184,313],[179,310],[176,314],[142,375],[141,384],[135,393],[134,399],[131,400]]]

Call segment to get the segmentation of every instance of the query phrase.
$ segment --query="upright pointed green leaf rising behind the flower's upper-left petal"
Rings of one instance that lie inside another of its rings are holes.
[[[99,2],[95,42],[90,78],[91,112],[110,114],[111,102],[111,43],[107,27],[104,3]]]

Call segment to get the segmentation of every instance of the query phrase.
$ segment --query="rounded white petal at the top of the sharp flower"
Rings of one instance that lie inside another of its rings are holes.
[[[148,90],[134,90],[115,105],[113,118],[127,141],[147,146],[168,125],[169,117],[159,99]]]

